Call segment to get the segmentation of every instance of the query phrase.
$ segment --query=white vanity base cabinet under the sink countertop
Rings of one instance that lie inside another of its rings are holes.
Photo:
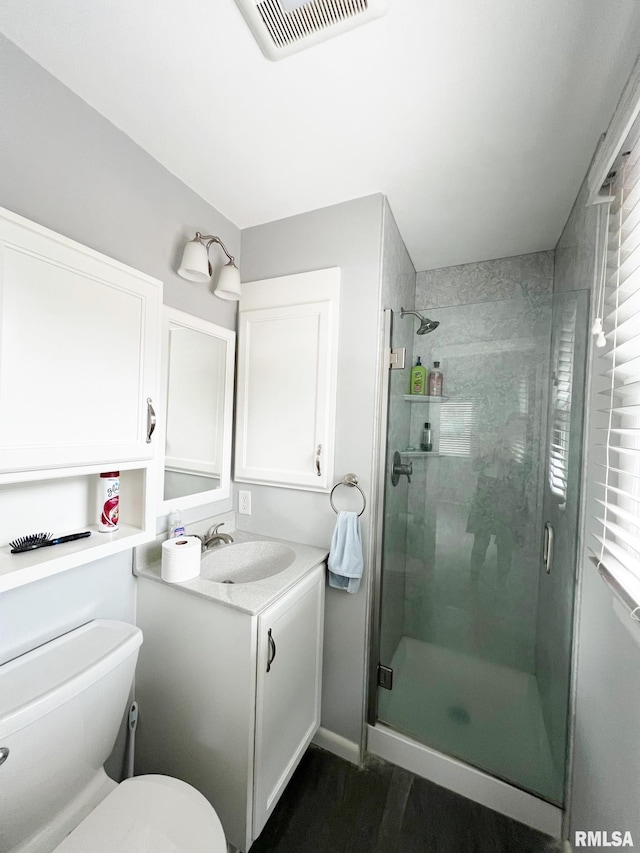
[[[320,725],[324,575],[257,615],[138,578],[136,770],[198,788],[243,851]]]

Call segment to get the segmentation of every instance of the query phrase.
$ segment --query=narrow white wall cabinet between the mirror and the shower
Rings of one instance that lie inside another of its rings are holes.
[[[340,270],[242,285],[235,479],[333,482]]]

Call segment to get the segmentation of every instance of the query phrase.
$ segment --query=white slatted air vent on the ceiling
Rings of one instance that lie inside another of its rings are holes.
[[[379,18],[391,0],[236,0],[268,59],[333,38]]]

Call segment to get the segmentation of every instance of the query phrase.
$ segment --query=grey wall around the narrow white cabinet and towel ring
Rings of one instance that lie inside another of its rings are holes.
[[[334,482],[348,472],[357,474],[368,509],[361,518],[365,575],[359,592],[327,589],[322,725],[357,744],[364,714],[372,565],[370,496],[379,376],[382,214],[383,197],[373,195],[242,232],[245,281],[332,266],[341,269]],[[252,515],[243,520],[246,529],[329,545],[336,516],[328,494],[258,485],[247,488],[252,492]],[[340,508],[356,508],[357,497],[342,489]]]

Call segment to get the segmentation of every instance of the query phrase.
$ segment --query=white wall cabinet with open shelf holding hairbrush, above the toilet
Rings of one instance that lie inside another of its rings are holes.
[[[162,282],[0,208],[0,591],[153,538],[161,308]],[[113,470],[120,528],[101,534],[98,477]]]

